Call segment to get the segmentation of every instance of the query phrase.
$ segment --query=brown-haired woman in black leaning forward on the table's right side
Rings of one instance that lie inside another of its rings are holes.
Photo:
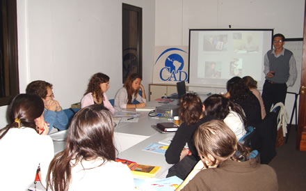
[[[167,177],[178,176],[184,180],[200,160],[193,144],[193,133],[199,125],[213,117],[204,116],[204,105],[198,95],[186,93],[179,100],[179,119],[181,125],[175,132],[165,157],[169,164],[175,164],[169,169]],[[184,148],[186,143],[188,149]]]

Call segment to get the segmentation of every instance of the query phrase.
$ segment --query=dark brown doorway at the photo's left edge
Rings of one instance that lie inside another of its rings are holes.
[[[17,6],[0,0],[0,106],[19,93],[17,59]]]

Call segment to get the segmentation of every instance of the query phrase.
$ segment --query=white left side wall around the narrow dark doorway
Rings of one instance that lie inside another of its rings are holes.
[[[79,102],[96,72],[122,87],[122,2],[143,8],[143,84],[152,82],[155,1],[17,0],[19,87],[42,79],[63,108]],[[148,92],[148,91],[146,91]],[[0,127],[7,124],[0,107]]]

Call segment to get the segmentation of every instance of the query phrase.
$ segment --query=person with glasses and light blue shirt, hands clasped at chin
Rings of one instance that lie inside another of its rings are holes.
[[[52,127],[58,130],[65,130],[68,125],[68,118],[65,112],[59,102],[54,100],[52,86],[52,84],[42,80],[33,81],[26,86],[26,93],[38,95],[44,101],[44,117],[49,123],[49,132],[51,132]]]

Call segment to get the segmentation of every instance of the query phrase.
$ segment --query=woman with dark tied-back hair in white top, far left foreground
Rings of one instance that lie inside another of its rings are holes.
[[[39,167],[40,181],[46,185],[54,146],[47,136],[44,109],[38,95],[19,94],[10,103],[11,123],[0,130],[0,190],[28,190]]]

